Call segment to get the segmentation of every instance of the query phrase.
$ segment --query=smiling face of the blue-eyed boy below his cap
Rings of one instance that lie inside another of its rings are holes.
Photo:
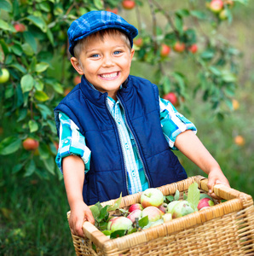
[[[79,74],[101,92],[107,92],[116,100],[121,84],[130,74],[130,64],[134,49],[129,49],[120,34],[106,34],[103,41],[99,37],[91,38],[77,58],[72,57],[72,66]]]

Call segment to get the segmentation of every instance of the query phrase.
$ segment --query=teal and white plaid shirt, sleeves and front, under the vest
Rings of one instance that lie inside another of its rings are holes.
[[[159,98],[160,123],[166,141],[170,148],[177,149],[174,144],[177,135],[186,130],[197,132],[196,127],[186,119],[176,108],[165,99]],[[128,177],[128,190],[130,194],[143,191],[148,188],[148,182],[143,170],[141,159],[136,147],[135,139],[132,137],[128,125],[124,119],[124,109],[120,103],[115,102],[111,97],[107,97],[107,108],[115,120],[118,134],[124,155],[124,166]],[[85,138],[80,133],[77,125],[65,113],[59,113],[60,119],[60,142],[56,155],[56,164],[62,172],[61,160],[71,154],[78,155],[84,160],[85,170],[89,172],[89,162],[91,152],[85,144]]]

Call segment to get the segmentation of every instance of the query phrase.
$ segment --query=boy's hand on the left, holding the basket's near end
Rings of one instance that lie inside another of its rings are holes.
[[[82,225],[85,221],[95,224],[95,219],[91,210],[84,203],[84,201],[75,203],[75,205],[71,208],[71,215],[69,218],[72,234],[76,236],[84,236]]]

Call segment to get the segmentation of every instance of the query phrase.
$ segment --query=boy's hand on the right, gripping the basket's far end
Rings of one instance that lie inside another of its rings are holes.
[[[225,186],[227,186],[228,188],[230,188],[229,182],[227,177],[225,177],[225,175],[223,174],[222,170],[220,168],[215,168],[213,170],[211,170],[211,172],[209,172],[208,175],[208,194],[211,195],[212,197],[218,199],[218,197],[213,193],[213,186],[215,184],[223,184]]]

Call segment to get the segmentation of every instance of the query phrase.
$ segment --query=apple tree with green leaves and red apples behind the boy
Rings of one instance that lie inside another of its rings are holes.
[[[68,60],[66,31],[90,10],[107,9],[138,27],[135,61],[153,66],[152,82],[161,96],[188,110],[189,73],[168,65],[188,60],[197,71],[193,95],[202,91],[211,114],[219,118],[233,108],[240,51],[223,37],[220,26],[229,26],[234,9],[246,0],[181,2],[1,0],[0,154],[14,159],[13,174],[49,178],[59,173],[53,109],[80,81]],[[130,20],[130,14],[136,19]]]

